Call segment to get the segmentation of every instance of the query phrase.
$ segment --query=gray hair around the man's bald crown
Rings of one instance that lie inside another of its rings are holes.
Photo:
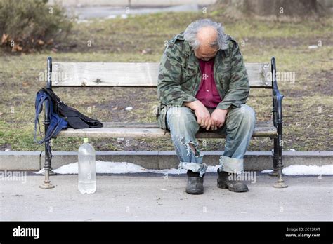
[[[202,27],[213,27],[218,33],[218,38],[216,41],[210,44],[211,47],[216,47],[217,49],[222,50],[228,48],[226,34],[224,33],[224,29],[221,23],[214,22],[210,19],[201,19],[190,23],[190,25],[188,25],[184,32],[184,39],[188,41],[188,43],[194,50],[197,50],[197,48],[199,48],[200,46],[200,42],[197,39],[197,32],[199,32]]]

